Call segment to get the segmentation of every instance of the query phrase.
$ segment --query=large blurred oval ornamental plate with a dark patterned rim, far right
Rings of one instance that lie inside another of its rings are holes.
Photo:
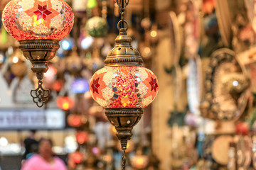
[[[206,71],[206,95],[201,112],[215,120],[234,120],[247,105],[250,79],[235,58],[235,52],[223,48],[213,52]]]

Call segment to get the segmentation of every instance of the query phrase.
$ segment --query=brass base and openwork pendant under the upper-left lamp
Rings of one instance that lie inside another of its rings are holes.
[[[21,40],[19,42],[19,48],[26,59],[32,63],[31,69],[36,73],[38,88],[31,91],[31,96],[33,102],[41,108],[50,96],[50,90],[43,89],[43,73],[47,72],[49,60],[55,57],[60,47],[59,40]]]

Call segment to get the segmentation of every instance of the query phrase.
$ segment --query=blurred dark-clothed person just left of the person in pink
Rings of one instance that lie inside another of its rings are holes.
[[[26,159],[31,157],[34,153],[38,152],[38,141],[35,139],[36,130],[30,130],[29,136],[24,140],[25,153],[23,154],[23,160],[21,164],[24,164]]]

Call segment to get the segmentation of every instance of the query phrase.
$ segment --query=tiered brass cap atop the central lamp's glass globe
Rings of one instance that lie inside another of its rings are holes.
[[[139,52],[132,47],[132,38],[127,35],[127,28],[120,28],[119,35],[115,39],[117,43],[115,47],[110,50],[105,60],[105,67],[108,66],[141,66],[142,57]]]

